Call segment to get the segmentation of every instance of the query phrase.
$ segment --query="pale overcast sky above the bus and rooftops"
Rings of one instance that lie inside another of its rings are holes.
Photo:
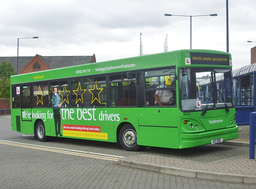
[[[229,0],[233,69],[250,64],[256,0]],[[92,56],[96,61],[190,49],[226,52],[226,0],[1,0],[0,56]]]

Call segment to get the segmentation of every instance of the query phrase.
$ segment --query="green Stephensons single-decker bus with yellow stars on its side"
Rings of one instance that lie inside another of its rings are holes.
[[[207,88],[200,86],[204,77],[210,80]],[[238,137],[232,85],[231,55],[214,50],[11,76],[12,130],[39,141],[114,142],[127,151],[214,144]]]

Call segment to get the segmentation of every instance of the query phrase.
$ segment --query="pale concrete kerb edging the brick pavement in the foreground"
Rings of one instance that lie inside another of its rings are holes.
[[[132,161],[129,160],[129,157],[120,158],[118,160],[118,165],[193,179],[206,179],[211,181],[223,181],[228,183],[256,184],[256,176],[253,175],[214,173],[210,171],[197,171],[192,169],[169,167],[166,165],[156,165],[154,163]]]

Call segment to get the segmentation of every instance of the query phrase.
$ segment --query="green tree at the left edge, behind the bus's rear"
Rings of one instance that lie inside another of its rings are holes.
[[[0,98],[10,98],[10,76],[16,75],[10,62],[0,64]]]

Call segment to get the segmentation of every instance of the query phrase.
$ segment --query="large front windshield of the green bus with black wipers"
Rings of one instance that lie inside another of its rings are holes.
[[[226,109],[234,106],[231,69],[181,68],[179,70],[182,111]]]

